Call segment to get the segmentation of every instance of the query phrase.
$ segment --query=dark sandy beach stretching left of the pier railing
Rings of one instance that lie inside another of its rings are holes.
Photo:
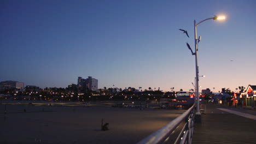
[[[1,105],[0,143],[136,143],[184,110]],[[24,112],[26,109],[26,112]],[[109,123],[101,131],[101,121]]]

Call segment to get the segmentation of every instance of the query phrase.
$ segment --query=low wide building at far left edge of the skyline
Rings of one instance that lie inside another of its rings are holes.
[[[5,89],[16,88],[23,91],[24,89],[24,82],[18,81],[1,81],[0,82],[0,91],[4,91]]]

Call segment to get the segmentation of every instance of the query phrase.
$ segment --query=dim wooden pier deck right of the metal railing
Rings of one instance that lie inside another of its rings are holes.
[[[221,105],[206,105],[206,114],[201,115],[201,123],[195,124],[192,143],[256,143],[255,120],[217,108],[230,109]],[[243,109],[237,111],[248,113]],[[249,113],[256,115],[255,110]]]

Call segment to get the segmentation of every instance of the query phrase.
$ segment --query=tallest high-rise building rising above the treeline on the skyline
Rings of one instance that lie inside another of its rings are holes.
[[[82,77],[78,77],[77,86],[79,91],[97,91],[98,89],[98,80],[88,76],[88,79],[83,79]]]

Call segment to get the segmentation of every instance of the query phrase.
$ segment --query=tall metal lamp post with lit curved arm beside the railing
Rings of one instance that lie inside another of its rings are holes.
[[[202,20],[201,22],[196,24],[196,21],[194,20],[194,32],[195,32],[195,53],[193,53],[195,55],[195,67],[196,67],[196,122],[201,122],[201,112],[200,112],[200,107],[199,107],[199,69],[198,69],[198,64],[197,64],[197,26],[207,20],[224,20],[225,16],[214,16],[205,20]]]

